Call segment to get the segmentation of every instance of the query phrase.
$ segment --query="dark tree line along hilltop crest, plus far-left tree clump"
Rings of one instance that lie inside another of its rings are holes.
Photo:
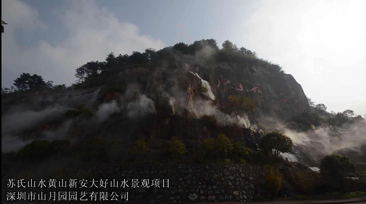
[[[176,63],[188,62],[193,64],[202,63],[244,63],[246,66],[265,67],[271,73],[283,73],[282,68],[262,58],[258,58],[255,52],[244,47],[238,48],[230,41],[225,41],[222,44],[222,49],[217,46],[215,39],[202,39],[195,41],[193,44],[185,44],[179,42],[174,46],[165,47],[161,50],[153,48],[145,49],[145,52],[134,51],[132,54],[119,54],[111,52],[105,58],[105,61],[90,61],[75,69],[75,77],[77,83],[85,82],[87,79],[98,75],[108,74],[114,71],[125,71],[141,66],[156,67],[167,66]],[[170,66],[171,67],[171,66]],[[19,78],[14,80],[14,86],[11,88],[1,88],[1,94],[6,94],[14,91],[40,90],[40,89],[55,89],[60,91],[60,88],[66,88],[62,85],[52,85],[52,81],[44,82],[39,75],[30,75],[22,73]],[[202,90],[204,91],[204,90]]]

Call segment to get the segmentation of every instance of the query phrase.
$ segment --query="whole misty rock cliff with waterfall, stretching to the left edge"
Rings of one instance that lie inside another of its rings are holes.
[[[111,91],[113,86],[120,87],[120,91]],[[257,107],[251,116],[255,119],[287,119],[310,109],[300,84],[289,74],[274,75],[260,67],[240,64],[180,63],[116,70],[61,93],[2,95],[2,135],[29,141],[100,135],[113,138],[122,134],[127,143],[145,138],[157,148],[163,148],[163,142],[156,139],[179,136],[187,148],[196,148],[202,138],[224,133],[255,149],[263,132],[249,128],[247,118],[232,118],[219,111],[216,122],[199,119],[220,109],[229,95],[237,94],[255,100]],[[93,116],[64,116],[82,103],[91,108]],[[233,126],[230,121],[239,125]]]

